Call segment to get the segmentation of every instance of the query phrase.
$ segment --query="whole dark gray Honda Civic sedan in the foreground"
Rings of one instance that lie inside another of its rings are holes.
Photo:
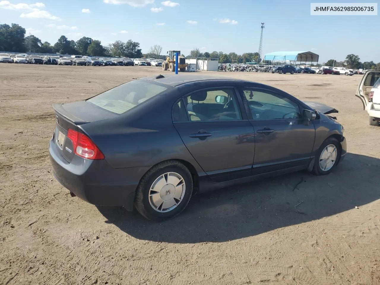
[[[196,192],[328,174],[347,152],[336,109],[244,80],[151,76],[53,108],[50,160],[71,196],[156,221]]]

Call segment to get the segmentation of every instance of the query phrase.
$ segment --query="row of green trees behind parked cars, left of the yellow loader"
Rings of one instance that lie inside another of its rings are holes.
[[[142,56],[140,44],[132,40],[127,42],[115,41],[103,46],[101,41],[86,36],[74,41],[62,35],[54,45],[51,45],[47,41],[42,42],[35,35],[25,36],[25,33],[25,28],[18,24],[0,25],[0,51],[133,58]]]

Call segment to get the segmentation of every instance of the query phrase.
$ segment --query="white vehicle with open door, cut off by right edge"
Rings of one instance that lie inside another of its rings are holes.
[[[371,126],[380,126],[380,71],[367,70],[355,93],[369,115]]]

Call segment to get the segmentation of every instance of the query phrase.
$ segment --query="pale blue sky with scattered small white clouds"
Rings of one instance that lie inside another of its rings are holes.
[[[313,51],[325,62],[353,53],[362,62],[380,62],[379,16],[310,16],[308,1],[0,0],[0,21],[51,44],[61,35],[89,36],[104,45],[131,39],[142,52],[159,44],[163,54],[179,49],[185,55],[193,47],[256,52],[265,22],[263,54]]]

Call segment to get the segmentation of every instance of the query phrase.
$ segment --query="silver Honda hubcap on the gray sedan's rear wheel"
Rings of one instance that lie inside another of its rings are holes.
[[[157,212],[165,213],[176,208],[185,195],[185,180],[178,173],[167,172],[152,183],[149,204]]]

